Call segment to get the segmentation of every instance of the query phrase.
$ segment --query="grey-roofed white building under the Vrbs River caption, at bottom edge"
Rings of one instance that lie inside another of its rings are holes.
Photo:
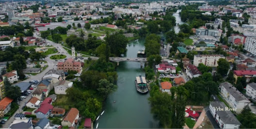
[[[221,129],[239,129],[240,122],[223,102],[214,101],[209,105],[210,113]]]

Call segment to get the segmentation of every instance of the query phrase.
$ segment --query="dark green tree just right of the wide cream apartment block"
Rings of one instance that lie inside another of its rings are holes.
[[[217,66],[217,73],[220,75],[224,76],[226,75],[227,71],[229,70],[229,63],[225,60],[220,58],[218,61],[218,66]]]

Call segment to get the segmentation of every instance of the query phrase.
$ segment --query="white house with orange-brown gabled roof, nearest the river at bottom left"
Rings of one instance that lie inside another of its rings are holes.
[[[62,127],[74,127],[75,124],[77,124],[77,120],[79,118],[79,111],[76,108],[71,108],[66,116],[61,121]]]

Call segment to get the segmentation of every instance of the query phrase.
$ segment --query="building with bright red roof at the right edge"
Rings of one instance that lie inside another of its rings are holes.
[[[255,70],[234,70],[234,78],[235,78],[235,82],[238,77],[245,77],[246,78],[246,82],[249,82],[251,78],[256,77],[256,71]]]

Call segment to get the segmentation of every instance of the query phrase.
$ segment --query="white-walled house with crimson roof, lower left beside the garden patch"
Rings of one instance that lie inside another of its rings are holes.
[[[50,116],[51,110],[53,109],[53,106],[49,103],[44,103],[40,105],[40,108],[38,108],[34,113],[36,118],[42,119],[42,118],[48,118]]]

